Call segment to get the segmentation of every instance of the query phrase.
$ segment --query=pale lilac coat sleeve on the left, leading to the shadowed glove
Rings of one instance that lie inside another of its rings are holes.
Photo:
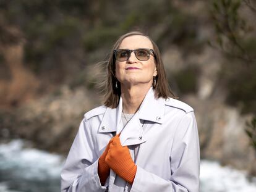
[[[61,172],[61,192],[105,190],[98,177],[98,157],[93,149],[90,125],[83,119]]]

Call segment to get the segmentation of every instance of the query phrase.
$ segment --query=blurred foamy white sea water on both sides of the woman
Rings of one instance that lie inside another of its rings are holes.
[[[60,191],[63,157],[23,148],[21,140],[0,144],[0,192]],[[200,192],[255,192],[256,179],[218,162],[202,161]]]

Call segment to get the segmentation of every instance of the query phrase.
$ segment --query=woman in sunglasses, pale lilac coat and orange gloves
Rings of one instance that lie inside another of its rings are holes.
[[[104,105],[80,124],[62,191],[198,192],[199,163],[194,111],[168,90],[158,47],[137,31],[121,36]]]

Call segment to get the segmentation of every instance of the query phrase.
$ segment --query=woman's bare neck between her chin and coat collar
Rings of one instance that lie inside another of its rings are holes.
[[[126,114],[135,114],[150,86],[129,86],[121,85],[122,109]]]

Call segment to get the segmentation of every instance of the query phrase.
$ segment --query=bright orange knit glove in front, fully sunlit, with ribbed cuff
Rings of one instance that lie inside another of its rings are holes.
[[[115,136],[109,143],[105,162],[119,177],[122,177],[130,184],[134,182],[137,165],[132,161],[128,147],[121,145],[119,135]]]

